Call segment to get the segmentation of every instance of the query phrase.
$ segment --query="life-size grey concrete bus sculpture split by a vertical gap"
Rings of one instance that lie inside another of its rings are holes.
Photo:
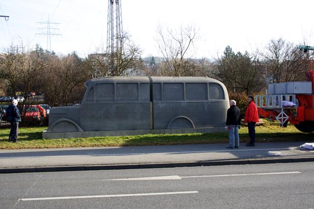
[[[43,138],[223,131],[229,97],[205,77],[88,80],[78,106],[53,107]]]

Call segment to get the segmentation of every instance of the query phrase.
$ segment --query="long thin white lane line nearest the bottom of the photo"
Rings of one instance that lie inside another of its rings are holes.
[[[193,193],[198,193],[198,191],[158,192],[158,193],[139,193],[139,194],[112,194],[112,195],[92,195],[92,196],[72,196],[72,197],[23,198],[23,199],[19,199],[19,201],[31,201],[31,200],[65,200],[65,199],[83,199],[83,198],[101,198],[101,197],[132,197],[132,196],[171,195],[171,194],[193,194]]]

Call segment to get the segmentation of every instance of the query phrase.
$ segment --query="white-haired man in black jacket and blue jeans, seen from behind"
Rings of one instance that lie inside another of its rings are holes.
[[[234,100],[230,100],[230,108],[227,111],[227,129],[229,132],[229,145],[227,148],[239,148],[239,129],[241,124],[241,111],[235,105]]]

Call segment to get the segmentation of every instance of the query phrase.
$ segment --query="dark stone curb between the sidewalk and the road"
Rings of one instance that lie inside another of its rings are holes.
[[[299,158],[271,158],[271,159],[237,159],[237,160],[214,160],[195,162],[167,162],[147,164],[109,164],[109,165],[78,165],[78,166],[49,166],[49,167],[24,167],[24,168],[0,168],[0,174],[7,173],[31,173],[31,172],[60,172],[60,171],[92,171],[92,170],[118,170],[118,169],[142,169],[142,168],[174,168],[215,165],[244,165],[266,163],[291,163],[313,162],[314,157]]]

